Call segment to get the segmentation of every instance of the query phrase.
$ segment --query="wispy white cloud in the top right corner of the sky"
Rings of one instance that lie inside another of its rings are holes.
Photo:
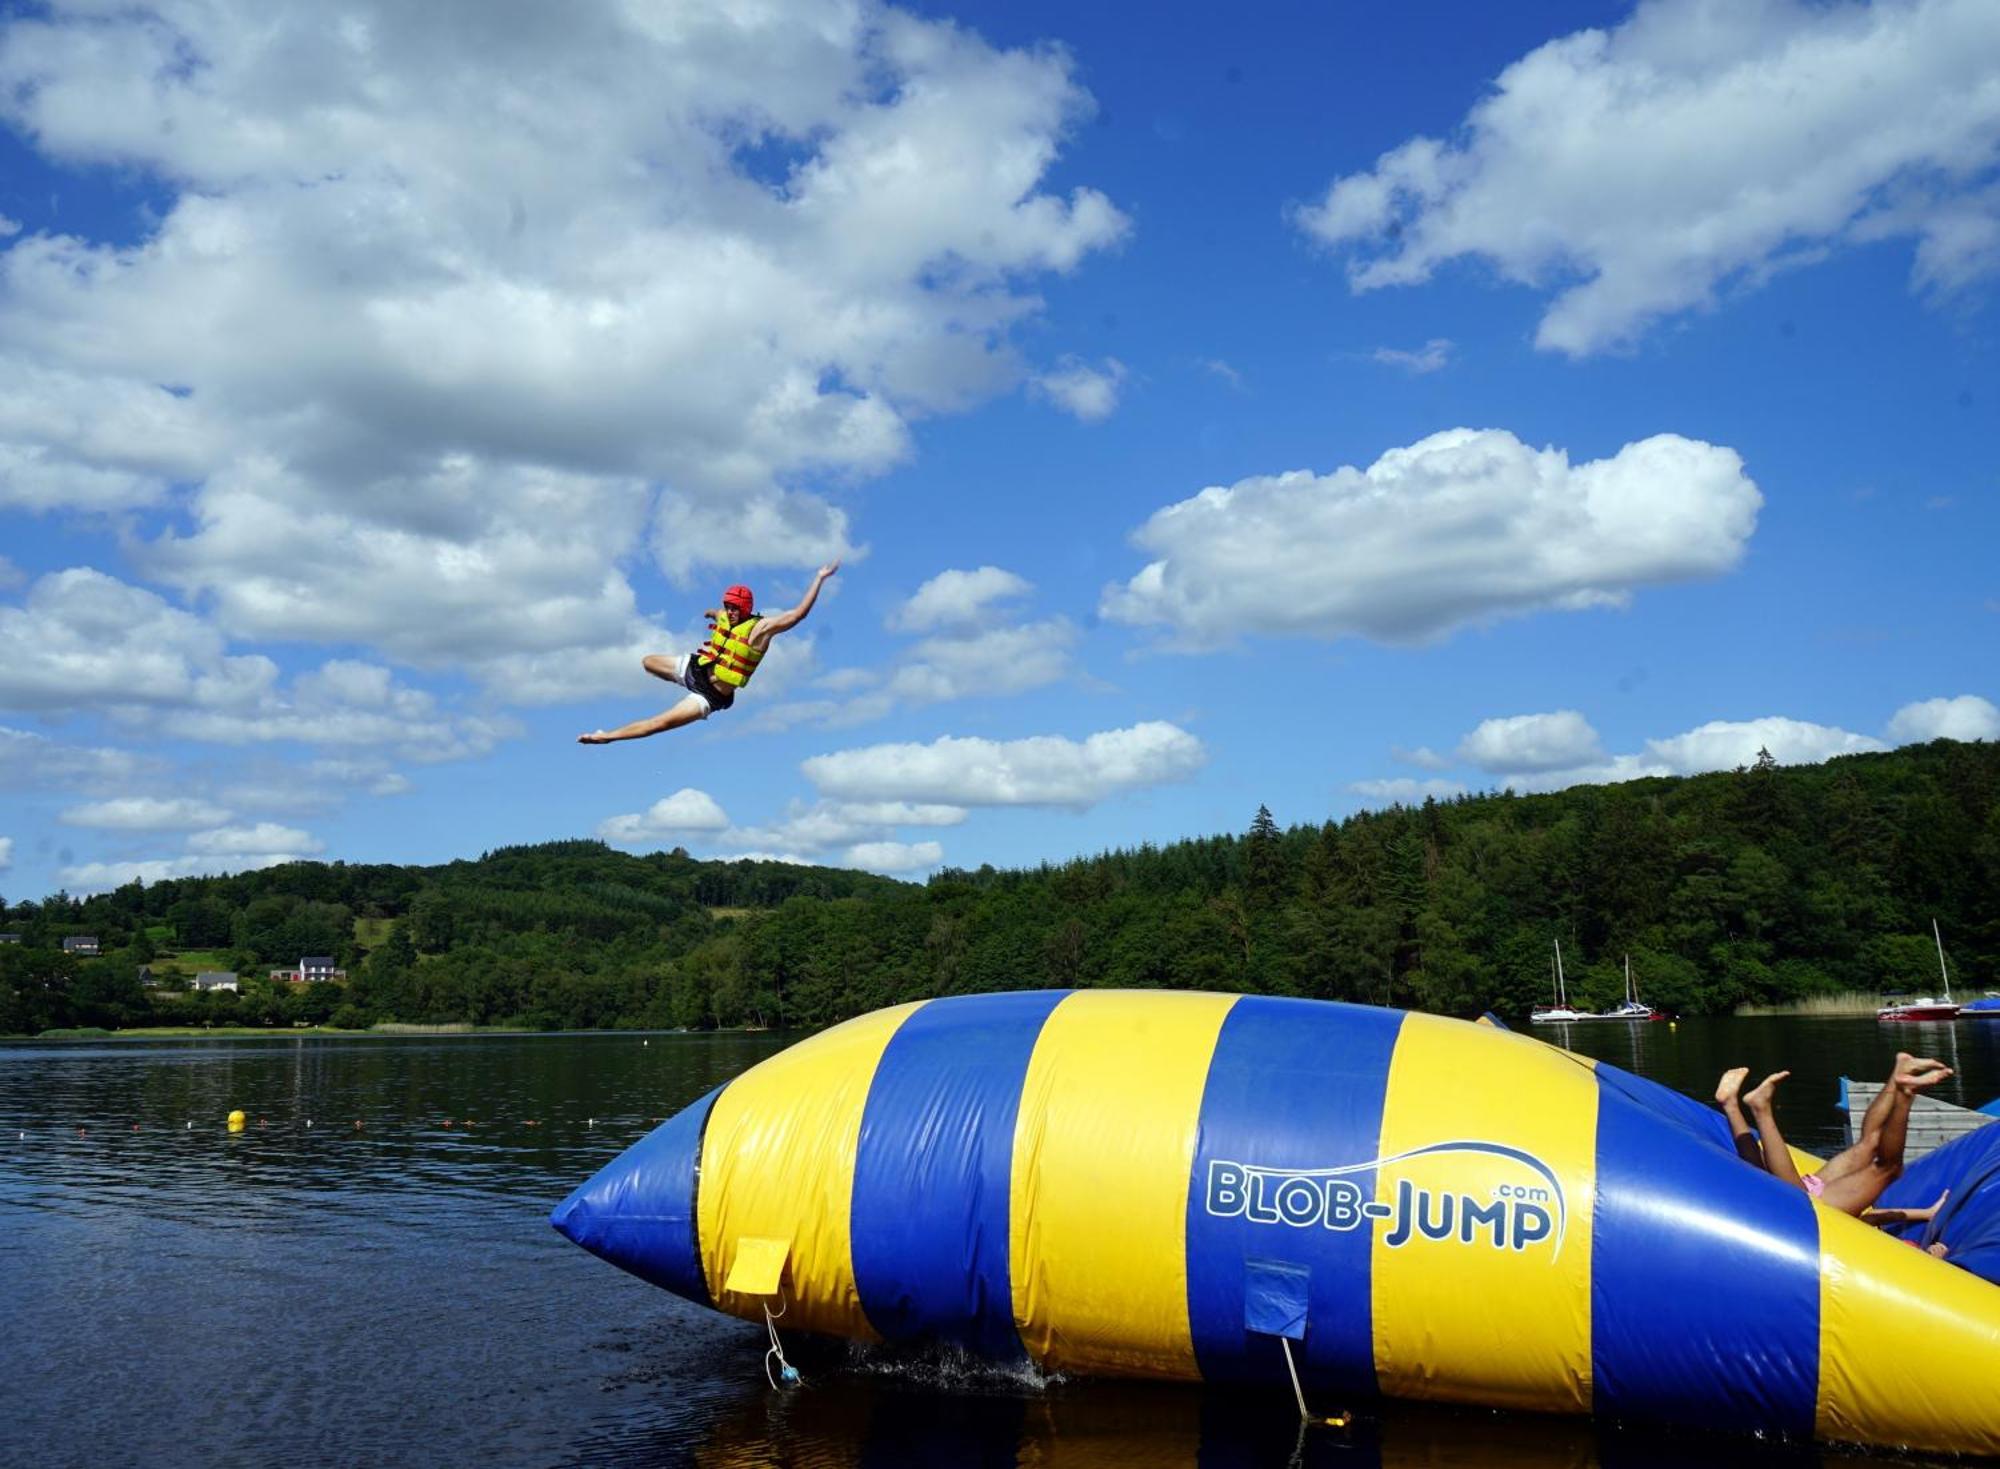
[[[1990,0],[1648,0],[1294,220],[1352,252],[1356,290],[1460,258],[1552,290],[1536,342],[1578,356],[1886,236],[1954,288],[2000,264],[1996,56]]]

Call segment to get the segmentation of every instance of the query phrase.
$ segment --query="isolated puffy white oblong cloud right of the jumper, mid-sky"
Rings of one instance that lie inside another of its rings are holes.
[[[1678,434],[1572,464],[1498,428],[1452,428],[1366,470],[1212,486],[1152,514],[1154,556],[1102,612],[1214,646],[1252,626],[1320,638],[1436,638],[1466,622],[1624,604],[1716,576],[1762,496],[1730,448]]]

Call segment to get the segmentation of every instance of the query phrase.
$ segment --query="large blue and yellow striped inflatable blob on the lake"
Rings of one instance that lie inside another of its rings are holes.
[[[2000,1131],[2000,1129],[1996,1129]],[[1504,1029],[1268,997],[900,1005],[552,1223],[730,1315],[1106,1377],[2000,1453],[2000,1289]]]

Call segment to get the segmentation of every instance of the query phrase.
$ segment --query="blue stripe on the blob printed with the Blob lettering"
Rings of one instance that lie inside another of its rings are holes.
[[[1188,1183],[1188,1325],[1204,1379],[1286,1381],[1278,1339],[1244,1329],[1244,1279],[1260,1261],[1312,1273],[1300,1371],[1316,1387],[1376,1391],[1374,1229],[1258,1223],[1262,1207],[1234,1191],[1256,1185],[1234,1183],[1230,1165],[1314,1173],[1374,1159],[1400,1029],[1400,1011],[1270,997],[1240,999],[1222,1023]],[[1372,1171],[1352,1185],[1374,1197]]]

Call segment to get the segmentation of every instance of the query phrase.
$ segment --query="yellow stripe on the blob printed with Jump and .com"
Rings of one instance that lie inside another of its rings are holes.
[[[1576,1057],[1404,1021],[1374,1195],[1384,1393],[1590,1411],[1596,1131],[1598,1083]]]

